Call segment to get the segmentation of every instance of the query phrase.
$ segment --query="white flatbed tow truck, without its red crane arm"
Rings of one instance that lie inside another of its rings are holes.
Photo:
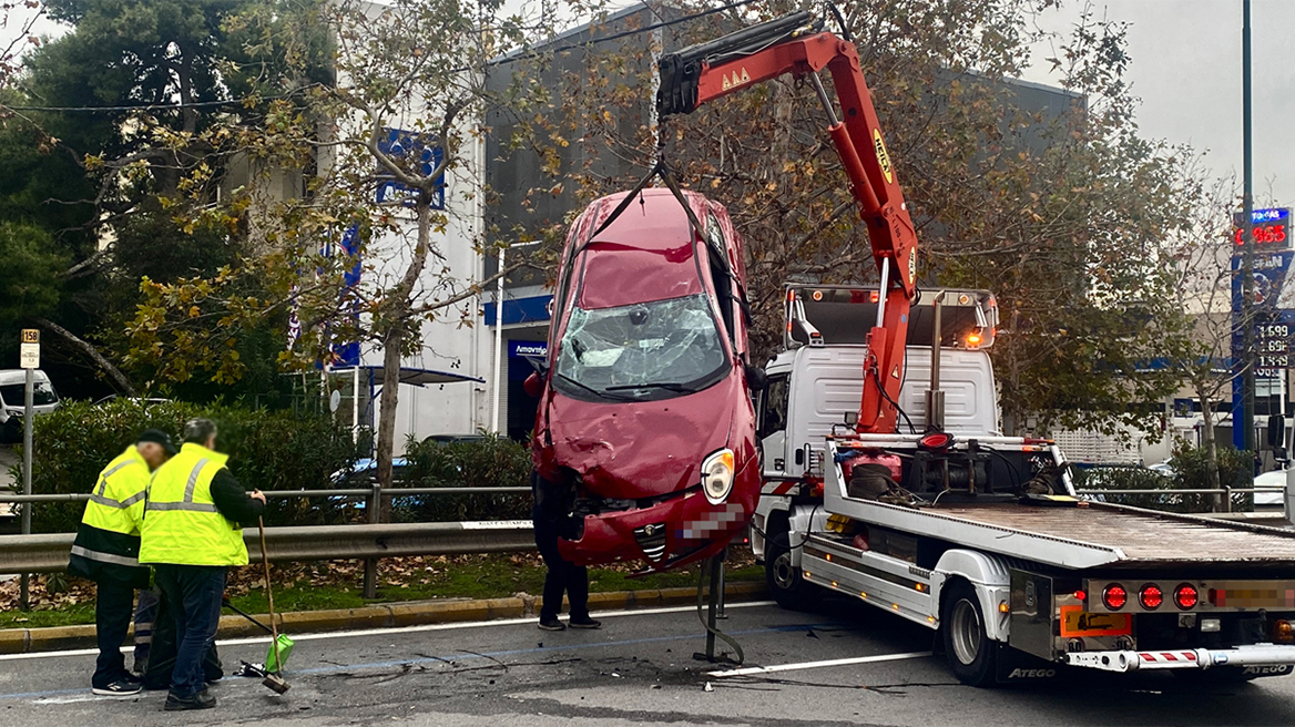
[[[904,433],[855,433],[873,292],[787,288],[751,538],[780,604],[830,590],[938,630],[976,686],[1295,669],[1295,532],[1076,498],[1054,442],[997,431],[989,294],[914,301]]]

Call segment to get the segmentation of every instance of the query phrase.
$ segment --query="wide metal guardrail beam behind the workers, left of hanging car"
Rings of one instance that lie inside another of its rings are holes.
[[[0,537],[0,573],[63,570],[75,537],[75,533]],[[243,542],[251,561],[259,560],[255,528],[243,530]],[[265,552],[278,563],[530,550],[535,550],[535,533],[526,520],[265,528]]]

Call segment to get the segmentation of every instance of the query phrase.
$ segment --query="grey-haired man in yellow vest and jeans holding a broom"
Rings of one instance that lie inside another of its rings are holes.
[[[216,451],[216,424],[192,419],[180,453],[158,467],[144,507],[140,563],[157,569],[157,583],[175,618],[177,653],[164,709],[216,706],[203,682],[202,658],[216,638],[220,599],[231,565],[247,565],[242,524],[265,510],[260,490],[247,494]]]

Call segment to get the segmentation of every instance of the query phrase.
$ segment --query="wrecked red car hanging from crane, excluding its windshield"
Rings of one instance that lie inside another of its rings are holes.
[[[648,570],[662,570],[721,551],[746,526],[759,497],[755,411],[745,370],[746,323],[736,303],[724,314],[721,292],[715,288],[734,285],[723,294],[739,298],[746,270],[742,241],[726,211],[693,193],[686,199],[708,234],[717,226],[723,241],[712,244],[723,244],[723,252],[704,242],[694,244],[682,206],[664,189],[644,190],[589,241],[623,198],[611,195],[589,204],[567,237],[532,458],[541,479],[571,483],[575,497],[618,503],[585,515],[579,539],[558,541],[566,559],[580,565],[646,560]],[[714,254],[728,257],[732,277],[712,274]],[[728,360],[726,373],[715,383],[692,393],[635,401],[572,396],[554,388],[575,301],[583,310],[597,310],[699,294],[708,300]],[[701,489],[701,466],[725,448],[734,457],[733,488],[712,505]],[[644,528],[655,539],[642,536]],[[664,550],[659,547],[662,532]],[[648,550],[645,538],[651,541]]]

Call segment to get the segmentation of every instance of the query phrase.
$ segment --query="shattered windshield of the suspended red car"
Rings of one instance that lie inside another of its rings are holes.
[[[728,371],[710,301],[688,295],[571,312],[557,385],[605,398],[663,398],[701,391]]]

